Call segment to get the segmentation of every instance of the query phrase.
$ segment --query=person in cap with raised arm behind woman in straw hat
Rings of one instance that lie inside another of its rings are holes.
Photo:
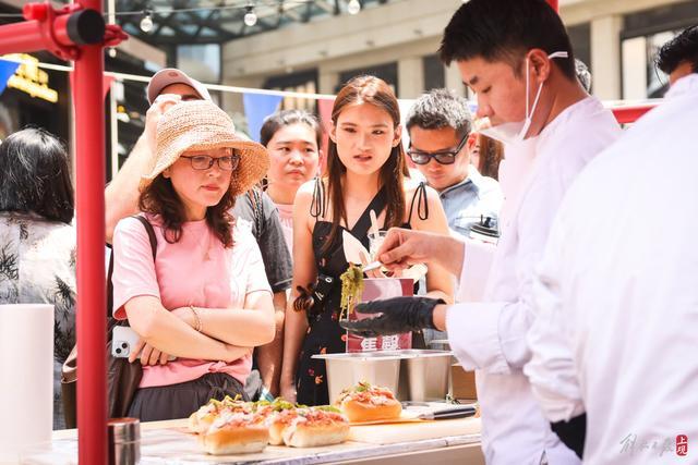
[[[146,96],[151,108],[145,119],[145,131],[133,147],[105,192],[107,216],[107,242],[111,231],[122,218],[137,212],[139,183],[146,174],[155,157],[155,131],[165,111],[179,101],[208,100],[210,95],[198,81],[177,69],[160,70],[148,83]],[[273,399],[279,393],[281,352],[284,348],[284,314],[286,293],[291,285],[291,256],[286,244],[279,211],[274,201],[257,186],[241,194],[234,203],[232,215],[238,227],[252,231],[264,260],[267,281],[274,292],[277,333],[274,341],[254,351],[254,369],[245,390],[253,399]]]

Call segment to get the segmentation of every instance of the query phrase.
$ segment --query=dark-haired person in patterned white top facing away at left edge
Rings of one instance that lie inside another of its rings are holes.
[[[61,367],[75,344],[73,209],[68,155],[58,138],[25,129],[0,144],[0,304],[53,305],[55,429],[65,427]],[[4,378],[12,381],[10,374]]]

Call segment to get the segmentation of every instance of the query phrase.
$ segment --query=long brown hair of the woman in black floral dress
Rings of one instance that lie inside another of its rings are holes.
[[[357,76],[349,81],[337,94],[335,105],[332,109],[332,121],[337,124],[339,114],[345,107],[353,103],[371,103],[382,110],[387,111],[393,120],[393,126],[397,129],[400,124],[400,108],[397,98],[385,83],[375,76]],[[327,252],[335,238],[339,234],[339,222],[347,224],[347,208],[341,192],[341,175],[347,172],[337,152],[337,145],[329,139],[327,147],[327,168],[324,179],[327,182],[327,189],[332,200],[332,229],[323,252]],[[399,227],[405,217],[405,191],[404,180],[409,176],[405,150],[402,144],[398,144],[390,150],[387,161],[381,167],[380,182],[385,187],[387,209],[385,216],[385,227]]]

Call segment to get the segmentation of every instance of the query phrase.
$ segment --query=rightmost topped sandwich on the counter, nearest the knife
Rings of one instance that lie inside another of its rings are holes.
[[[336,405],[351,423],[396,419],[402,413],[402,405],[389,389],[366,381],[341,391]]]

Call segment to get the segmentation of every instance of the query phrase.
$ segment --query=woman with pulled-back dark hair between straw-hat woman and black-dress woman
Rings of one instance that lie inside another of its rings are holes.
[[[304,110],[278,111],[264,120],[260,143],[269,154],[266,193],[279,210],[284,236],[293,252],[293,199],[318,174],[323,130]]]

